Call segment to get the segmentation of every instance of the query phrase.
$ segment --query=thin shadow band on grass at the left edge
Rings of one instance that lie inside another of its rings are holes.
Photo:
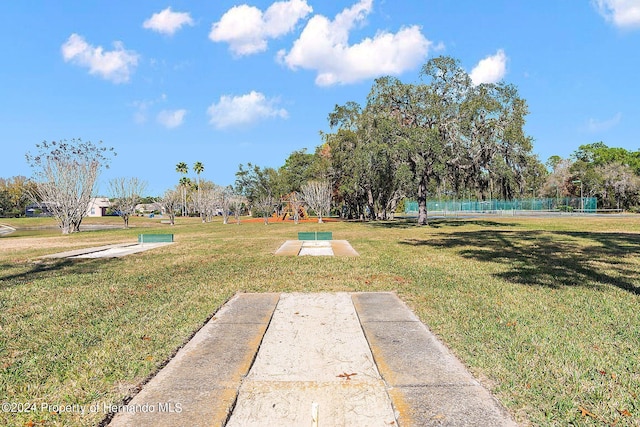
[[[58,274],[91,274],[104,267],[108,259],[59,259],[24,265],[0,264],[0,289]],[[6,274],[5,274],[6,273]]]

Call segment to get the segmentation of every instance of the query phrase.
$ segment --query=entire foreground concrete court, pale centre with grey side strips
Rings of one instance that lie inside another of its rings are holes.
[[[238,294],[111,426],[515,426],[392,292]]]

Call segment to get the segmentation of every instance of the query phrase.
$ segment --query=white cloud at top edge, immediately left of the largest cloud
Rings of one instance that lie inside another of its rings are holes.
[[[234,6],[211,26],[209,38],[229,43],[229,49],[239,56],[263,52],[267,39],[291,32],[312,11],[306,0],[275,2],[264,13],[246,4]]]

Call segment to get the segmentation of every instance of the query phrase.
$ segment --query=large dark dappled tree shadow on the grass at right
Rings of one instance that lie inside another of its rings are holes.
[[[401,244],[455,249],[467,258],[500,262],[506,281],[552,288],[608,284],[640,295],[640,268],[630,257],[640,251],[640,235],[480,230],[456,232]]]

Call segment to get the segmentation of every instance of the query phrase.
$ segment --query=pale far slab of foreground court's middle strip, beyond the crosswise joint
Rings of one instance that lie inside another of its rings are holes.
[[[344,372],[380,379],[349,294],[282,294],[247,380],[342,382]]]

